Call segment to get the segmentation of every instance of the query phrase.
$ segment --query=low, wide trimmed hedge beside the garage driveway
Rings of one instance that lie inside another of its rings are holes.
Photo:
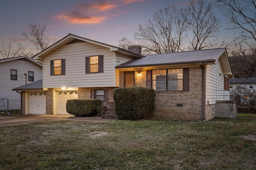
[[[66,110],[76,117],[87,117],[95,115],[98,106],[101,106],[100,100],[72,99],[67,100]]]

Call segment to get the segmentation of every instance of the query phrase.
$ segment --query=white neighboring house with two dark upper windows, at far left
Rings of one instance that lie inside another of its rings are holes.
[[[0,59],[0,110],[20,109],[20,92],[13,88],[42,79],[42,64],[30,57]]]

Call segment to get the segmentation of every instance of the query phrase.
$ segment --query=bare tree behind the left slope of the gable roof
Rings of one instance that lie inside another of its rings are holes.
[[[29,31],[23,32],[22,35],[35,47],[37,52],[43,51],[51,43],[57,41],[56,37],[49,37],[45,35],[46,25],[29,24]]]

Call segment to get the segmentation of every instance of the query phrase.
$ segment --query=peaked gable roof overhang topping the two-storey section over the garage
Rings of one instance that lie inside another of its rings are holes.
[[[40,53],[35,55],[33,57],[33,59],[42,60],[42,58],[44,56],[46,56],[49,53],[51,53],[52,51],[60,48],[61,46],[66,45],[67,43],[70,43],[71,41],[74,41],[75,39],[78,39],[78,40],[81,40],[81,41],[86,41],[86,42],[93,43],[93,44],[96,44],[96,45],[100,45],[100,46],[109,48],[110,51],[121,53],[121,54],[124,54],[124,55],[129,55],[129,56],[132,56],[134,58],[141,58],[141,57],[143,57],[143,55],[139,55],[139,54],[133,53],[133,52],[128,51],[126,49],[122,49],[122,48],[119,48],[119,47],[115,47],[113,45],[108,45],[108,44],[105,44],[105,43],[101,43],[101,42],[98,42],[98,41],[94,41],[94,40],[91,40],[91,39],[87,39],[87,38],[80,37],[80,36],[77,36],[77,35],[69,33],[66,37],[60,39],[60,41],[54,43],[50,47],[46,48],[44,51],[41,51]]]

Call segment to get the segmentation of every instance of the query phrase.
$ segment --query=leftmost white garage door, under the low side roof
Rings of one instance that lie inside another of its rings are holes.
[[[46,92],[28,93],[28,114],[46,114]]]

